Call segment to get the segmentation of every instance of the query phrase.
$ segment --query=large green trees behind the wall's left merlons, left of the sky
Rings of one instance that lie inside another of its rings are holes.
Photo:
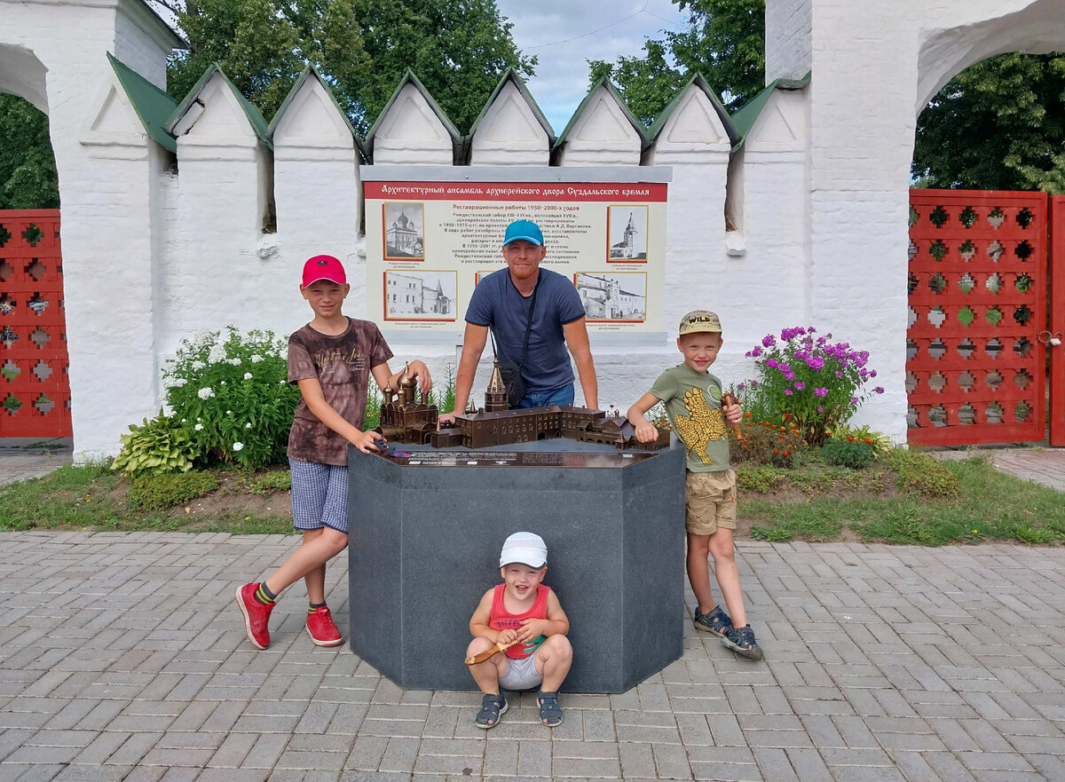
[[[190,50],[168,69],[180,100],[212,63],[272,117],[310,63],[365,132],[410,68],[468,130],[507,68],[531,76],[494,0],[189,0]]]

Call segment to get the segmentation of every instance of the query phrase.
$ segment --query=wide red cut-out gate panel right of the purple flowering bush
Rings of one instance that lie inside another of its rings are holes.
[[[1047,195],[910,195],[908,441],[1043,440]]]

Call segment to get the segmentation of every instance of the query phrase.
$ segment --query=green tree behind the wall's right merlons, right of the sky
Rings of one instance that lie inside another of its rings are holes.
[[[591,83],[610,78],[646,125],[654,121],[690,75],[700,72],[735,112],[765,86],[765,0],[673,0],[688,26],[646,40],[641,56],[589,61]]]

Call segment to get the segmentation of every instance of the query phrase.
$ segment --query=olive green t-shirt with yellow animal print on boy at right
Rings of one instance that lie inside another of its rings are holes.
[[[662,401],[673,431],[688,451],[691,472],[728,469],[727,425],[721,409],[721,380],[688,364],[666,370],[651,387]]]

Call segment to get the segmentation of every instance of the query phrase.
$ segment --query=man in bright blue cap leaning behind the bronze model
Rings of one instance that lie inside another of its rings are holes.
[[[584,305],[569,278],[540,268],[546,254],[543,233],[536,223],[519,219],[507,226],[503,239],[507,267],[482,277],[466,308],[462,356],[455,378],[456,412],[462,412],[470,400],[489,329],[495,337],[499,362],[521,364],[525,396],[519,407],[573,404],[569,348],[577,365],[585,407],[599,409]],[[442,424],[450,423],[455,414],[441,416],[440,420]]]

